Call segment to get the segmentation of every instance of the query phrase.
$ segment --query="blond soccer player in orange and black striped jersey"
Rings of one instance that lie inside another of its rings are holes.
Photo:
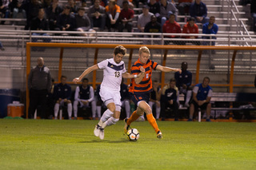
[[[130,128],[130,124],[133,121],[136,121],[138,117],[146,113],[147,121],[149,121],[150,125],[154,128],[154,131],[157,133],[157,137],[161,139],[162,132],[158,128],[158,124],[153,117],[150,105],[147,104],[150,99],[150,92],[152,91],[152,69],[160,70],[162,72],[180,73],[182,73],[182,70],[158,65],[157,62],[150,60],[149,57],[150,49],[148,49],[146,46],[142,46],[138,50],[138,61],[135,61],[134,65],[131,68],[132,74],[137,75],[138,73],[142,73],[142,76],[135,77],[131,81],[129,89],[130,98],[138,107],[137,110],[132,113],[129,119],[125,119],[124,132],[126,133],[128,131],[128,129]]]

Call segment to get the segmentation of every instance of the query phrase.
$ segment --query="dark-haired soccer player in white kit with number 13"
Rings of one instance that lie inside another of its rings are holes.
[[[104,139],[104,128],[106,126],[114,125],[120,117],[121,112],[121,96],[120,85],[123,78],[140,77],[145,69],[141,67],[141,73],[137,76],[126,72],[126,67],[122,57],[126,55],[126,48],[118,45],[114,48],[113,58],[106,59],[99,62],[97,65],[90,66],[79,77],[74,78],[74,82],[82,80],[88,73],[96,70],[103,69],[103,81],[99,95],[106,105],[107,109],[103,113],[98,125],[94,128],[94,135],[99,136],[101,140]]]

